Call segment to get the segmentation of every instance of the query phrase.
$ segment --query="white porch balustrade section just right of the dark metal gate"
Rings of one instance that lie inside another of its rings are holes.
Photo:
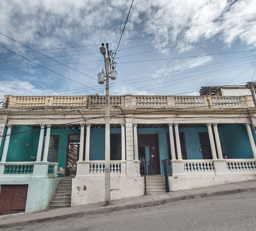
[[[185,172],[211,172],[214,171],[212,160],[189,160],[184,162]]]

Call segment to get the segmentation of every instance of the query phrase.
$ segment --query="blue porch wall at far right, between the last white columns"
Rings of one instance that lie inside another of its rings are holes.
[[[253,152],[246,127],[243,124],[222,124],[218,126],[222,153],[228,159],[253,158]]]

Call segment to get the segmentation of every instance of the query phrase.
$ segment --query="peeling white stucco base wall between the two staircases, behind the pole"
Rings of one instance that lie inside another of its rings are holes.
[[[71,206],[91,204],[104,201],[105,179],[103,176],[90,179],[72,179]],[[144,177],[126,179],[111,176],[111,200],[138,197],[144,195]]]

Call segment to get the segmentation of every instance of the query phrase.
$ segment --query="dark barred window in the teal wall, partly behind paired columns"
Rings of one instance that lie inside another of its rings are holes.
[[[45,144],[45,135],[44,135],[44,141],[43,141],[41,160],[43,159],[43,154],[44,154],[44,144]],[[58,149],[59,149],[59,135],[50,135],[48,158],[47,158],[49,162],[54,162],[54,163],[57,162]]]

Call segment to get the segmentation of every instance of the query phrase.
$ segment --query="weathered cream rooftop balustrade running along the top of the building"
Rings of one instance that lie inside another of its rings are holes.
[[[7,96],[6,96],[7,97]],[[6,97],[4,101],[6,100]],[[8,96],[9,104],[12,107],[29,106],[76,106],[76,105],[105,105],[105,95],[77,95],[77,96]],[[251,101],[252,96],[246,96],[246,101]],[[125,102],[126,101],[126,102]],[[207,103],[209,102],[209,104]],[[244,105],[244,98],[241,96],[139,96],[124,97],[110,96],[110,105],[121,105],[125,107],[127,103],[130,106],[213,106],[218,108],[248,107],[248,102]],[[251,105],[252,106],[252,105]],[[251,107],[250,106],[250,107]],[[204,108],[204,107],[203,107]]]

